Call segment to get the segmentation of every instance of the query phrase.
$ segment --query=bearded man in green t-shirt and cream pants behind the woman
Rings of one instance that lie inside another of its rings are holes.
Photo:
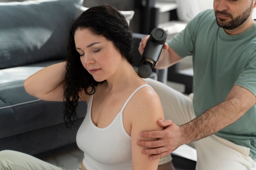
[[[158,121],[162,131],[141,132],[149,159],[169,155],[193,142],[197,170],[250,170],[256,161],[256,0],[214,0],[207,10],[164,46],[156,68],[193,55],[192,100],[178,93]],[[142,54],[148,40],[141,40]],[[161,92],[161,91],[160,91]],[[158,93],[158,92],[157,92]],[[160,94],[159,94],[160,96]],[[175,122],[175,123],[174,123]],[[176,123],[177,122],[177,123]],[[160,159],[161,161],[161,159]]]

